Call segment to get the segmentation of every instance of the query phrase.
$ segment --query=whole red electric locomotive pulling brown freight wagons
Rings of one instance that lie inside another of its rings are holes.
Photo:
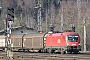
[[[77,32],[50,33],[46,35],[45,51],[54,53],[78,53],[81,50],[80,36]]]

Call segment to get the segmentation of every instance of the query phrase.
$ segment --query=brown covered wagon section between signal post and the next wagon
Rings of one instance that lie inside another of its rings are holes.
[[[23,34],[12,35],[11,37],[12,50],[18,50],[22,48],[22,37],[23,37]]]

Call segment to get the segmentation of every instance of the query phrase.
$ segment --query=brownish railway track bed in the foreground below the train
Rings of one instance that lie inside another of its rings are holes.
[[[0,59],[6,60],[5,52],[0,52]],[[13,52],[13,60],[90,60],[89,53],[80,54],[48,54],[48,53],[27,53]]]

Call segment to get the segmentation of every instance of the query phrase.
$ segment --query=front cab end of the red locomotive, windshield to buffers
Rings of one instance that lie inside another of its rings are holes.
[[[81,50],[80,36],[78,33],[74,32],[73,34],[68,34],[66,40],[67,52],[78,53]]]

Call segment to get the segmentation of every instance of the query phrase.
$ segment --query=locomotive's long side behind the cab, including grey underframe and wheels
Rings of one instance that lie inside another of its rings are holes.
[[[47,52],[53,53],[55,51],[65,51],[66,47],[66,40],[62,33],[52,33],[47,35],[45,46],[45,50]]]

